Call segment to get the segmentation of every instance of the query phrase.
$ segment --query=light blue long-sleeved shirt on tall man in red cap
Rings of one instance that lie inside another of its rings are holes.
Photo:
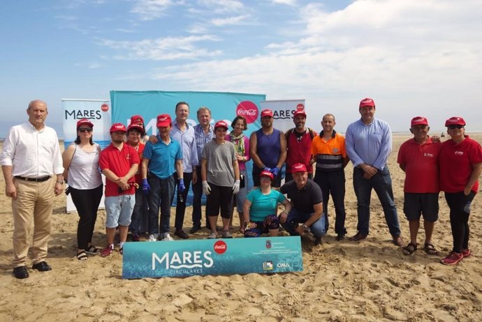
[[[370,164],[383,170],[392,152],[392,132],[385,121],[374,118],[365,125],[361,118],[348,125],[345,135],[346,154],[353,167]]]

